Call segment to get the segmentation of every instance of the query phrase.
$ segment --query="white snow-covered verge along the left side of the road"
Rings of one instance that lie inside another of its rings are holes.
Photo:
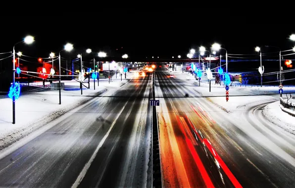
[[[84,88],[83,95],[79,89],[79,82],[62,81],[65,84],[65,90],[61,91],[60,105],[58,104],[58,90],[21,94],[15,102],[15,124],[12,124],[12,100],[8,97],[0,98],[0,150],[69,110],[86,103],[93,98],[92,96],[102,94],[107,90],[115,90],[128,81],[124,78],[122,81],[120,78],[113,78],[109,83],[108,79],[100,79],[99,87],[96,81],[96,90],[94,90],[93,79],[91,79],[90,89]],[[88,86],[88,84],[84,85]],[[69,88],[70,90],[66,91]]]

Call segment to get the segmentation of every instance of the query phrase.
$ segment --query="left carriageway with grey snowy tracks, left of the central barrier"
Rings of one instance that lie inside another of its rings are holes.
[[[19,141],[0,159],[0,187],[149,187],[150,80],[131,80]]]

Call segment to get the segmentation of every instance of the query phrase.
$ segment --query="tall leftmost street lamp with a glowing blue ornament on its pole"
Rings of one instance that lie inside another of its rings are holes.
[[[19,44],[19,43],[26,43],[28,45],[32,44],[34,42],[34,37],[32,36],[27,36],[25,37],[22,41],[18,42],[18,43],[15,43],[13,45],[13,51],[12,51],[12,55],[13,55],[13,75],[12,75],[12,86],[10,87],[10,89],[16,89],[16,88],[19,88],[19,84],[15,84],[15,45]],[[21,53],[20,53],[21,55]],[[12,98],[12,124],[15,124],[15,99],[18,98],[20,94],[20,91],[19,92],[16,92],[16,93],[13,93],[11,94],[11,98]]]

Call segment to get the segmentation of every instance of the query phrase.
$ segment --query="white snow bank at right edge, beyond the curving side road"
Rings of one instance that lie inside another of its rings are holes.
[[[266,105],[262,110],[262,115],[271,123],[295,135],[295,117],[281,109],[280,101]]]

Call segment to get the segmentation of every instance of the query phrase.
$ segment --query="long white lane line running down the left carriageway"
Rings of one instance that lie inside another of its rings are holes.
[[[126,104],[123,106],[123,108],[121,109],[121,111],[118,113],[116,119],[114,120],[114,122],[112,123],[112,125],[110,126],[110,128],[108,129],[107,133],[104,135],[104,137],[99,142],[99,144],[98,144],[96,150],[94,151],[94,153],[92,154],[91,158],[89,159],[89,161],[86,163],[86,165],[84,166],[84,168],[80,172],[80,174],[79,174],[78,178],[76,179],[75,183],[72,185],[72,188],[77,188],[79,186],[79,184],[81,183],[81,181],[84,178],[84,176],[86,175],[86,172],[88,171],[91,163],[94,161],[96,155],[98,154],[98,150],[101,148],[102,144],[107,139],[109,133],[113,129],[114,125],[116,124],[118,118],[120,117],[121,113],[123,112],[123,110],[125,109],[125,107],[126,107],[127,104],[128,104],[128,102],[126,102]]]

